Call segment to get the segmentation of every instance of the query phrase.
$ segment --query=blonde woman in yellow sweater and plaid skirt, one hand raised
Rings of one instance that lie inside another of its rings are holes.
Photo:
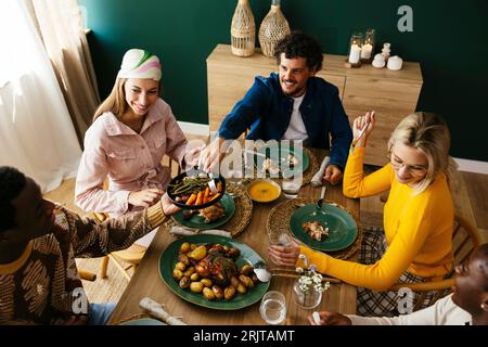
[[[395,316],[402,303],[387,290],[397,282],[442,278],[451,267],[453,204],[448,187],[450,136],[438,116],[415,113],[406,117],[388,142],[389,163],[364,177],[363,157],[375,116],[354,121],[354,141],[344,172],[344,194],[363,197],[389,190],[384,207],[384,233],[365,231],[360,264],[313,252],[296,240],[291,246],[271,246],[273,261],[303,266],[304,254],[322,273],[358,286],[358,314]],[[365,132],[360,132],[367,127]],[[428,306],[431,297],[424,301]],[[407,313],[407,312],[401,312]]]

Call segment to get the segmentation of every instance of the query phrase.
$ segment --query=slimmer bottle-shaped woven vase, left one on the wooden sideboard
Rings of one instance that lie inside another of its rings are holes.
[[[239,0],[231,25],[232,54],[239,56],[253,55],[255,36],[256,25],[249,0]]]

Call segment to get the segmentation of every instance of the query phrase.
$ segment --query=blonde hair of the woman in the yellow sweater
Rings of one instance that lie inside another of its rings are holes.
[[[433,113],[416,112],[403,118],[391,133],[388,151],[391,154],[396,143],[414,147],[427,157],[427,172],[414,192],[422,193],[441,172],[448,182],[450,171],[455,163],[449,157],[451,136],[444,119]]]

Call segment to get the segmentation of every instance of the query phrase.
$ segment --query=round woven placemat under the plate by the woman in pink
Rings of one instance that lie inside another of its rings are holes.
[[[231,219],[216,229],[229,231],[232,234],[232,237],[235,237],[243,232],[243,230],[251,221],[251,217],[253,216],[253,201],[251,200],[249,195],[247,195],[245,187],[242,184],[227,182],[226,190],[229,193],[236,195],[236,197],[234,198],[235,213]],[[170,230],[172,227],[181,224],[176,221],[175,218],[171,218],[165,223],[165,226],[166,228],[168,228],[168,230]],[[188,227],[184,228],[191,229]]]

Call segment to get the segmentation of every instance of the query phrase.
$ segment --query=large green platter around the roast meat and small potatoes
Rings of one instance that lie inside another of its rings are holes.
[[[159,258],[159,274],[169,288],[184,300],[217,310],[237,310],[259,301],[268,291],[270,282],[261,282],[248,290],[246,294],[235,293],[235,296],[231,300],[221,298],[209,301],[201,293],[192,293],[189,288],[180,288],[178,282],[172,278],[172,270],[175,269],[175,265],[178,262],[177,258],[180,246],[184,242],[190,244],[194,243],[196,245],[205,243],[219,243],[221,245],[237,247],[241,250],[241,255],[235,260],[237,269],[241,269],[245,264],[255,265],[258,261],[264,261],[253,248],[233,239],[217,235],[193,235],[178,239],[174,241],[162,254]]]

